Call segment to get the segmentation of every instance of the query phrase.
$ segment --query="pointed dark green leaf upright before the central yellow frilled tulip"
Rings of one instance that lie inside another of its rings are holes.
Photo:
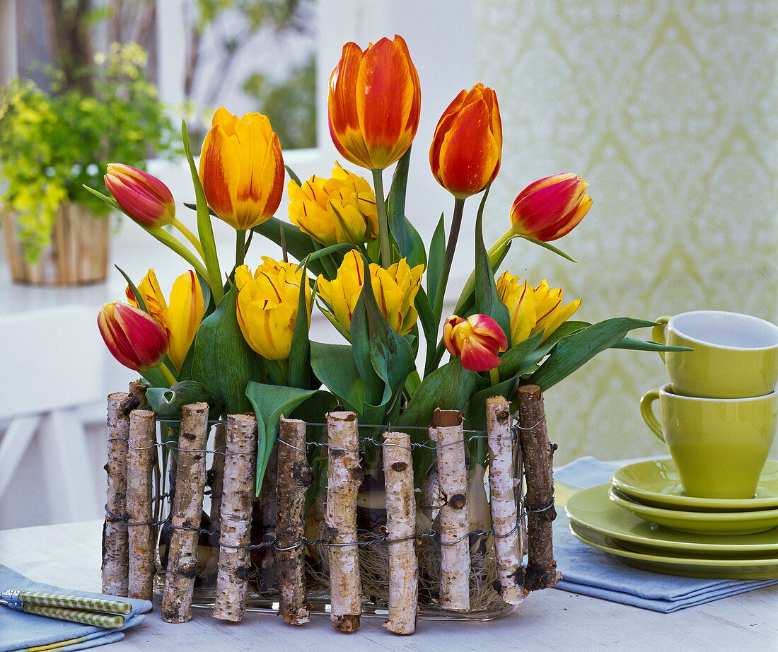
[[[366,258],[363,258],[363,269],[365,282],[351,318],[354,360],[368,385],[368,402],[387,405],[402,390],[408,374],[415,369],[413,352],[408,341],[394,331],[381,313],[373,294]],[[384,384],[378,400],[374,381],[376,375]]]

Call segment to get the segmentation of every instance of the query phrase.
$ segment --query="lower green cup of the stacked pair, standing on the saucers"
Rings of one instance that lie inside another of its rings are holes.
[[[660,418],[654,414],[659,401]],[[778,391],[753,398],[643,394],[640,414],[670,449],[687,496],[753,498],[776,436]]]

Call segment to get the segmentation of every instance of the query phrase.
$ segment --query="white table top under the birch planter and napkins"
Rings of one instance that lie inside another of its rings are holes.
[[[100,591],[102,521],[0,531],[0,563],[32,580]],[[159,601],[145,621],[110,650],[776,650],[778,585],[663,614],[546,589],[517,611],[492,622],[419,621],[412,636],[397,636],[383,619],[364,618],[356,633],[314,615],[300,627],[272,615],[247,613],[240,623],[195,609],[182,624],[163,622]]]

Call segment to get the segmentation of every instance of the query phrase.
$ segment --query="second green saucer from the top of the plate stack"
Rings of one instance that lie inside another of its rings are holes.
[[[605,485],[608,486],[608,485]],[[752,535],[778,527],[778,510],[750,512],[685,512],[663,510],[630,500],[611,486],[608,498],[637,517],[681,532],[703,532],[706,535]]]

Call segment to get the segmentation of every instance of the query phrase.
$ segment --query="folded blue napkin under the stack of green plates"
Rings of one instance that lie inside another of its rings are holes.
[[[587,489],[610,482],[613,472],[623,465],[623,461],[581,457],[556,469],[554,479],[563,485]],[[559,507],[557,510],[560,514],[554,521],[554,556],[564,579],[555,588],[562,591],[669,613],[778,584],[778,580],[710,580],[663,575],[626,566],[607,552],[573,537],[564,510]]]

